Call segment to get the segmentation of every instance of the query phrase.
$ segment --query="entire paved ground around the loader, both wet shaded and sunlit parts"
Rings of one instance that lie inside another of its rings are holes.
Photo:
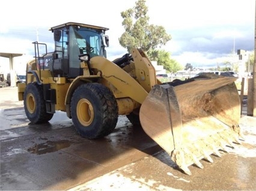
[[[255,117],[242,116],[241,145],[186,175],[125,116],[111,135],[86,140],[66,113],[31,125],[16,91],[0,89],[1,190],[256,190]]]

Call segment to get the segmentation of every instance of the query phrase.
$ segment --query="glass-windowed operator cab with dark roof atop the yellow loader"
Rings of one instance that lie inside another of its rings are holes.
[[[47,60],[47,66],[43,69],[50,69],[53,77],[76,78],[82,75],[81,60],[79,60],[82,54],[89,54],[90,58],[106,57],[105,47],[109,46],[109,38],[105,35],[105,31],[108,28],[69,22],[49,30],[54,35],[55,50],[51,54],[46,50],[46,54],[38,61],[43,62],[44,65]]]

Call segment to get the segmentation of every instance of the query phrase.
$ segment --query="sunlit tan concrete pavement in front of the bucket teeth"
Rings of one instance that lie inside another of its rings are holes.
[[[165,151],[73,187],[81,190],[256,190],[256,119],[243,116],[240,123],[246,140],[222,157],[203,160],[204,169],[190,166],[192,175],[177,171]]]

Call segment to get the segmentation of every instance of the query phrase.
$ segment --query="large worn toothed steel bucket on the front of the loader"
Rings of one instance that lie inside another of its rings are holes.
[[[186,174],[188,166],[213,162],[210,154],[233,147],[242,136],[235,77],[206,74],[155,85],[141,105],[141,126]]]

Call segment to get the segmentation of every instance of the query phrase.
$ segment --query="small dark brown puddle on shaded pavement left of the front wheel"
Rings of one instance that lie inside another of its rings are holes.
[[[46,154],[52,153],[62,148],[67,148],[71,145],[71,142],[68,140],[62,141],[47,141],[46,143],[42,144],[35,144],[34,147],[28,148],[28,151],[33,154]]]

